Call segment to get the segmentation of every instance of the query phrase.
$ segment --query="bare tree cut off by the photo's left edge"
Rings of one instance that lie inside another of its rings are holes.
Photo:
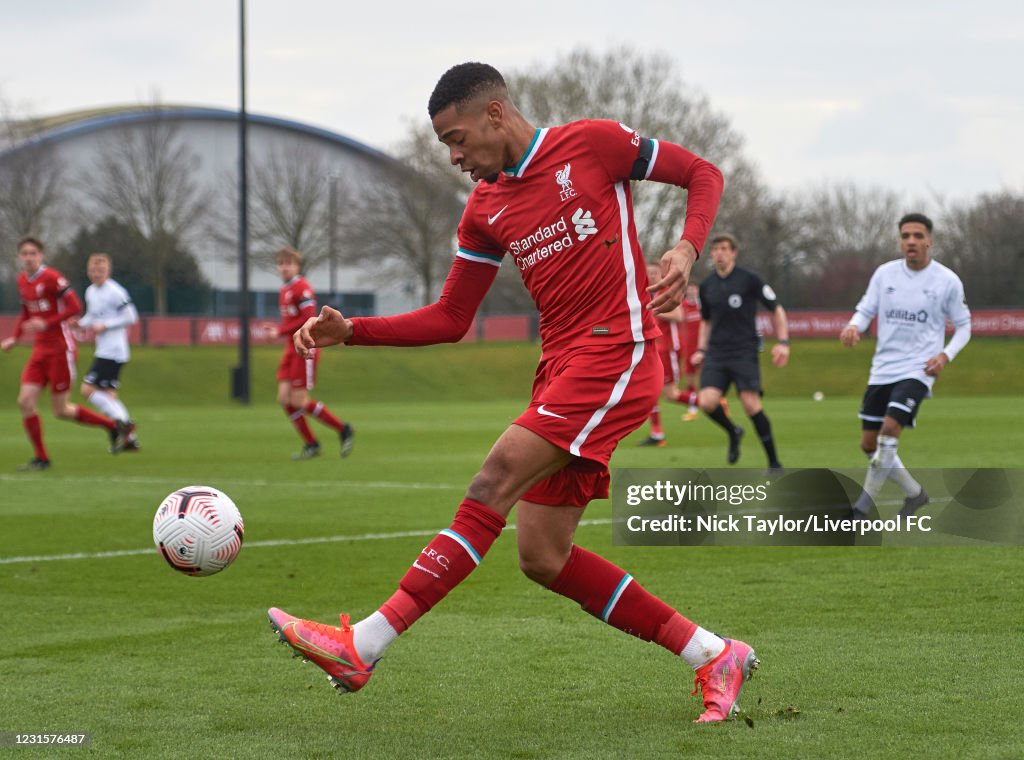
[[[65,166],[41,131],[38,120],[16,118],[0,98],[0,279],[14,272],[8,253],[19,238],[51,240],[63,218]]]

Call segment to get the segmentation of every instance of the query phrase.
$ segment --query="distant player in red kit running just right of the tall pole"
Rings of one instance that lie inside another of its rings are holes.
[[[278,303],[281,306],[281,324],[278,335],[287,337],[285,352],[278,366],[278,403],[285,410],[288,419],[295,425],[302,437],[302,451],[293,459],[312,459],[319,456],[319,441],[309,429],[306,415],[311,415],[335,430],[341,438],[341,456],[352,452],[354,431],[347,422],[335,417],[323,402],[309,397],[316,380],[316,365],[319,353],[310,351],[308,357],[300,356],[291,341],[292,333],[302,327],[306,320],[316,315],[316,296],[313,289],[300,273],[302,254],[293,248],[282,248],[276,255],[278,273],[284,285]]]

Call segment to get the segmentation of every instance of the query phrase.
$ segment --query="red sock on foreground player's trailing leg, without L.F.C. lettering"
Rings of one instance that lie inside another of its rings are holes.
[[[551,590],[609,626],[660,644],[673,655],[683,650],[696,630],[694,623],[647,592],[626,571],[575,545]]]

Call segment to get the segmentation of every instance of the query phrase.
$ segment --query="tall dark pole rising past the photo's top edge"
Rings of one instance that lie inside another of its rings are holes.
[[[249,118],[246,113],[246,0],[239,0],[239,366],[232,396],[249,404]]]

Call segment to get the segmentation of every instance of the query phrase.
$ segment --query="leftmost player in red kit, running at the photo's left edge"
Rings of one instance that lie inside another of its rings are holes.
[[[17,244],[17,259],[22,272],[17,276],[17,292],[22,311],[14,324],[14,334],[0,341],[0,349],[9,351],[22,335],[35,336],[32,355],[22,373],[17,406],[22,422],[32,441],[35,456],[23,470],[45,470],[50,457],[43,444],[43,425],[37,407],[43,388],[50,385],[53,415],[61,420],[74,420],[84,425],[105,427],[111,436],[111,451],[124,446],[127,426],[121,430],[117,422],[85,407],[70,404],[68,395],[75,380],[77,346],[68,320],[82,311],[82,302],[71,285],[56,269],[43,263],[46,249],[36,238],[23,238]]]

